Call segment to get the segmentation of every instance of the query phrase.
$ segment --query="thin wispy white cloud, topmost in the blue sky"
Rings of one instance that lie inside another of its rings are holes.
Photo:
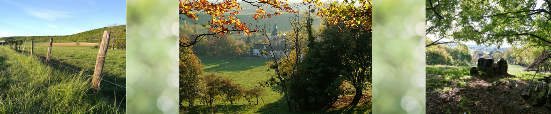
[[[56,19],[65,19],[65,18],[69,18],[69,17],[73,16],[73,15],[69,15],[69,14],[72,14],[71,12],[63,12],[63,11],[40,9],[40,8],[31,8],[27,5],[14,3],[14,2],[11,2],[11,1],[4,1],[4,2],[15,5],[16,7],[19,7],[21,9],[23,9],[27,14],[36,16],[37,18],[40,18],[40,19],[46,19],[46,20],[54,21]]]

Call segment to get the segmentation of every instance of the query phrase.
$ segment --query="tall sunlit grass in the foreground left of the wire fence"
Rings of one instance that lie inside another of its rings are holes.
[[[82,72],[49,67],[4,46],[0,52],[0,113],[126,112],[109,96],[95,93]]]

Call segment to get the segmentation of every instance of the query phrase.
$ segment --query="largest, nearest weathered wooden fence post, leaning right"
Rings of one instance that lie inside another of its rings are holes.
[[[98,59],[96,59],[96,68],[94,70],[94,77],[92,78],[92,87],[99,89],[101,82],[101,71],[103,70],[105,56],[107,55],[107,45],[109,45],[109,36],[111,32],[104,31],[103,38],[101,39],[100,48],[98,50]]]

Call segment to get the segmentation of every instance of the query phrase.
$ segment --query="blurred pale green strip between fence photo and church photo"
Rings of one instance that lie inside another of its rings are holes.
[[[178,113],[179,1],[127,1],[127,113]]]

